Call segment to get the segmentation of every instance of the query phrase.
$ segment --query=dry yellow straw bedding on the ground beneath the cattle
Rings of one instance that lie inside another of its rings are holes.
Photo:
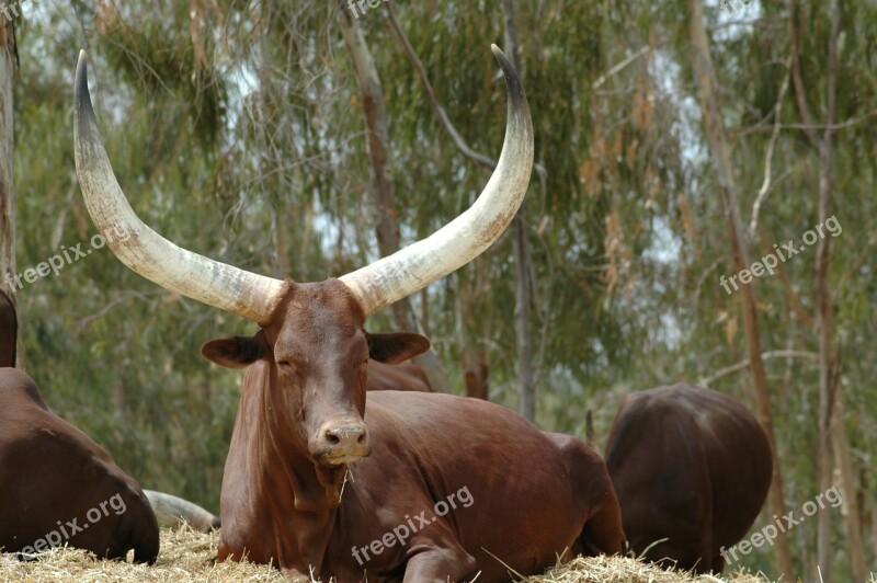
[[[29,563],[0,555],[0,581],[39,583],[112,583],[144,581],[187,583],[212,582],[283,582],[277,571],[249,563],[216,563],[216,533],[196,533],[187,527],[162,528],[161,553],[153,567],[118,561],[98,561],[84,551],[57,548]],[[544,576],[532,576],[526,583],[764,583],[759,576],[736,574],[728,579],[684,573],[670,573],[651,565],[620,557],[577,559]]]

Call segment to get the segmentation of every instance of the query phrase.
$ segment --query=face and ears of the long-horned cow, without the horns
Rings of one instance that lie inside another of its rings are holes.
[[[371,453],[363,422],[368,358],[400,363],[429,350],[430,341],[366,332],[360,302],[339,279],[287,279],[282,297],[258,334],[214,340],[201,353],[229,368],[265,361],[283,409],[300,419],[288,423],[299,450],[327,466],[356,461]]]

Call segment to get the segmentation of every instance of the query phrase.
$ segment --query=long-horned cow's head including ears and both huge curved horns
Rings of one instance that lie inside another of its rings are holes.
[[[398,363],[429,348],[418,334],[369,334],[365,319],[465,265],[496,241],[524,198],[533,165],[533,128],[521,81],[493,46],[509,93],[505,141],[493,175],[459,217],[390,256],[338,279],[296,284],[209,260],[144,225],[115,179],[94,119],[84,52],[76,80],[76,164],[98,229],[128,267],[174,293],[242,316],[261,328],[252,338],[216,340],[202,354],[223,366],[266,367],[272,403],[317,461],[338,466],[369,454],[366,361]]]

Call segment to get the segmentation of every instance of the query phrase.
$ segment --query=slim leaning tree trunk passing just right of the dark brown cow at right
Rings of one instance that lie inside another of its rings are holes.
[[[725,136],[725,125],[719,116],[718,81],[716,79],[713,58],[704,28],[704,7],[701,0],[690,0],[692,60],[694,77],[697,83],[697,94],[701,102],[701,112],[704,117],[707,141],[713,163],[718,175],[719,188],[722,194],[725,215],[728,220],[728,231],[731,243],[731,255],[734,270],[738,272],[750,265],[749,249],[744,239],[744,231],[740,221],[737,185],[731,167],[730,147]],[[777,516],[786,514],[786,503],[783,498],[783,472],[779,459],[776,457],[776,438],[774,436],[773,412],[771,410],[771,396],[767,390],[767,376],[764,371],[764,362],[761,357],[761,339],[759,336],[759,321],[755,311],[754,284],[744,285],[740,290],[741,308],[743,312],[743,330],[747,339],[747,348],[755,387],[755,401],[758,403],[759,423],[767,435],[771,451],[774,457],[773,480],[771,482],[770,501],[771,511]],[[781,533],[774,544],[778,573],[787,580],[795,579],[795,568],[791,562],[791,549],[788,534]]]

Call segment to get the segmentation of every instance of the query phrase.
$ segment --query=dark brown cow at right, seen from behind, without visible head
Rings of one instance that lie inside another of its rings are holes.
[[[630,395],[606,445],[630,548],[646,560],[720,573],[771,485],[764,431],[730,397],[691,385]],[[665,559],[662,561],[662,559]]]

